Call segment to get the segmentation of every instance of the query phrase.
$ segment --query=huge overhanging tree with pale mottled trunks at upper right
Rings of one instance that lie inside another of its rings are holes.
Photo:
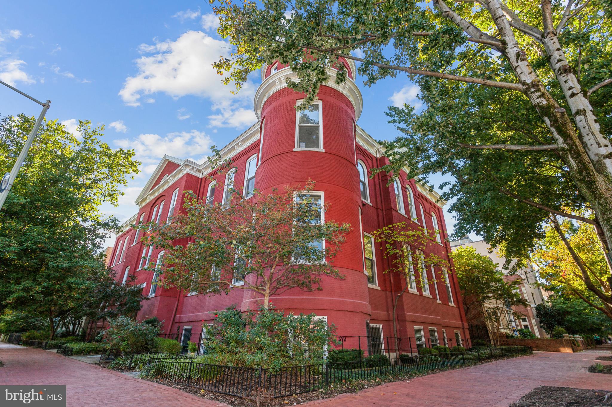
[[[367,85],[404,72],[425,109],[390,108],[402,134],[383,143],[390,165],[382,170],[409,167],[408,178],[423,182],[452,175],[442,198],[455,199],[457,236],[476,231],[503,243],[509,258],[526,258],[551,214],[594,225],[610,258],[610,5],[219,1],[219,32],[236,50],[215,66],[239,88],[278,59],[307,101],[325,81],[346,81],[340,58],[361,62]]]

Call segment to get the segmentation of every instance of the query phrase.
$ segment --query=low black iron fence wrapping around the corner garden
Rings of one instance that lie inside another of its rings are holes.
[[[205,364],[185,358],[184,355],[132,354],[121,356],[122,361],[115,358],[114,367],[121,367],[119,365],[123,362],[126,367],[142,369],[143,378],[257,399],[317,391],[330,384],[348,380],[364,380],[462,366],[527,351],[529,348],[519,346],[487,347],[455,353],[446,351],[428,355],[405,354],[397,358],[381,356],[280,369]],[[139,358],[140,361],[137,361]]]

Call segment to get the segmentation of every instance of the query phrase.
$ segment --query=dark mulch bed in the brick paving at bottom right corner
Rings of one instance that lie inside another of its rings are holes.
[[[605,400],[608,395],[607,400]],[[605,400],[605,401],[604,401]],[[510,407],[612,406],[612,392],[573,387],[536,387]]]

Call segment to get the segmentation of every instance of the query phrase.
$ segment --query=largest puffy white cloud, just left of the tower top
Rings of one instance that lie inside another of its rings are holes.
[[[188,31],[176,41],[166,40],[153,46],[141,45],[140,52],[157,52],[136,60],[138,73],[125,79],[119,96],[128,106],[140,106],[145,95],[163,92],[172,98],[185,95],[201,96],[214,102],[212,109],[220,110],[211,120],[213,125],[238,126],[245,123],[244,107],[252,102],[255,85],[245,82],[238,95],[230,93],[231,86],[221,83],[212,68],[220,55],[229,55],[230,45],[201,31]],[[149,51],[154,49],[155,51]],[[145,103],[153,103],[152,98]],[[237,113],[239,118],[231,116]],[[251,121],[255,121],[252,114]]]

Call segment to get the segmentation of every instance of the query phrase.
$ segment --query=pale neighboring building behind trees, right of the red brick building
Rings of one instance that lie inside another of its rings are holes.
[[[491,250],[491,247],[485,243],[483,240],[477,240],[474,242],[469,237],[463,237],[461,240],[454,240],[450,242],[450,247],[453,250],[456,250],[459,247],[473,247],[476,250],[476,253],[481,256],[487,256],[494,263],[499,265],[500,270],[506,273],[506,270],[503,270],[501,267],[506,263],[506,258],[501,256],[497,250]],[[512,260],[510,265],[515,264],[515,260]],[[506,281],[513,281],[515,279],[521,278],[523,279],[523,283],[520,284],[520,294],[524,300],[529,303],[529,307],[524,306],[513,306],[513,311],[521,314],[520,320],[516,320],[512,314],[506,315],[506,320],[502,322],[501,331],[507,333],[516,333],[517,330],[521,328],[526,328],[532,331],[537,337],[547,337],[547,334],[540,326],[539,321],[535,318],[535,306],[537,304],[542,304],[546,301],[545,294],[542,292],[542,289],[537,286],[537,280],[535,278],[535,272],[531,265],[528,262],[527,267],[520,268],[516,274],[506,275]],[[486,306],[486,305],[485,305]],[[483,322],[482,310],[473,308],[470,309],[468,315],[468,323],[471,328],[471,336],[472,339],[476,337],[482,337],[483,330],[486,331],[486,327],[484,327],[485,323]],[[482,327],[482,328],[481,328]]]

